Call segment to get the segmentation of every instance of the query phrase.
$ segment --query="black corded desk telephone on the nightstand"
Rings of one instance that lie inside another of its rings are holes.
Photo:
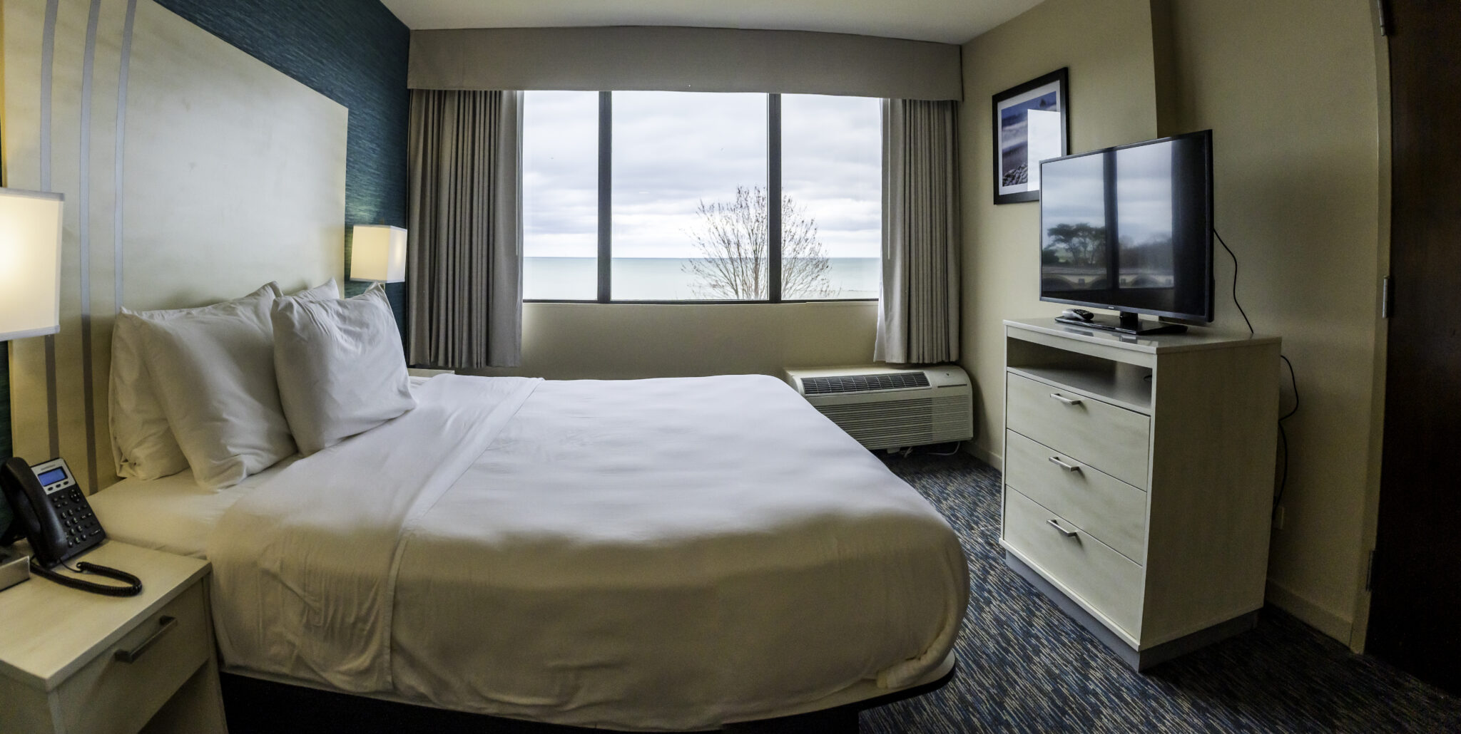
[[[107,538],[107,531],[76,486],[76,477],[64,458],[53,458],[35,467],[19,457],[4,460],[4,465],[0,465],[0,490],[4,490],[4,499],[15,512],[15,524],[0,541],[10,543],[18,534],[29,538],[31,552],[35,553],[31,571],[37,575],[96,594],[130,597],[142,592],[137,576],[96,563],[80,562],[75,571],[126,581],[129,585],[94,584],[54,571]]]

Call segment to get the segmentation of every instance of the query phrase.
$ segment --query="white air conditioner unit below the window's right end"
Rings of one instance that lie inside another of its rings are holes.
[[[969,374],[954,365],[786,369],[785,379],[868,448],[918,447],[974,436]]]

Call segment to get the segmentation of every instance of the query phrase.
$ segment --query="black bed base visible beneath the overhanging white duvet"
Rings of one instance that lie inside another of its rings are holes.
[[[945,671],[947,668],[947,671]],[[923,696],[948,684],[958,671],[953,658],[934,680],[821,711],[790,716],[726,724],[732,734],[856,734],[858,714],[899,700]],[[935,671],[937,674],[938,671]],[[612,730],[542,724],[487,714],[466,714],[424,706],[394,698],[340,693],[256,677],[241,671],[219,674],[224,711],[231,734],[605,734]],[[690,734],[690,733],[685,733]]]

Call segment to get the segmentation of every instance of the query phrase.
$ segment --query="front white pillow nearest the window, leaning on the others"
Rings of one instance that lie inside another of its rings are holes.
[[[343,301],[282,298],[270,318],[279,400],[304,455],[416,407],[380,283]]]

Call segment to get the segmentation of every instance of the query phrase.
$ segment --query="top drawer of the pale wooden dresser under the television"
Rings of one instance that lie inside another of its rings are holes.
[[[1005,426],[1147,489],[1151,420],[1141,413],[1007,372]]]

